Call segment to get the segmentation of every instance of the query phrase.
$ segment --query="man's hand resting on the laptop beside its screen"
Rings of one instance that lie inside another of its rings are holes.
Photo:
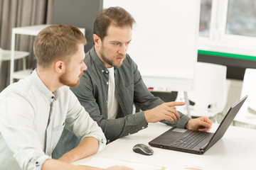
[[[212,123],[210,119],[206,117],[201,117],[188,120],[188,123],[186,123],[185,128],[188,130],[209,131],[211,125]]]

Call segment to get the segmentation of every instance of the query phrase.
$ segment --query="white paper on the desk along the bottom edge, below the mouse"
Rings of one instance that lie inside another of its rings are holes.
[[[79,164],[82,166],[92,166],[97,168],[106,169],[110,166],[127,166],[134,170],[164,170],[165,167],[163,166],[155,166],[151,164],[141,164],[138,162],[127,162],[121,161],[117,159],[106,159],[106,158],[99,158],[93,157],[90,161]]]

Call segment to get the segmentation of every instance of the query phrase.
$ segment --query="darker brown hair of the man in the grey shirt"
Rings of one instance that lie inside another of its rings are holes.
[[[118,27],[130,26],[132,28],[134,23],[134,18],[124,8],[119,6],[105,8],[98,13],[95,19],[93,33],[103,40],[107,35],[107,28],[111,24]]]

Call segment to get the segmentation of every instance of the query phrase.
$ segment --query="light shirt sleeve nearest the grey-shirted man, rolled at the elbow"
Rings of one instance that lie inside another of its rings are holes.
[[[95,120],[90,118],[90,115],[85,111],[78,101],[78,98],[69,90],[70,93],[70,106],[66,118],[66,125],[69,131],[73,132],[79,140],[85,137],[95,137],[99,141],[99,150],[105,148],[107,140],[102,129],[97,125]]]

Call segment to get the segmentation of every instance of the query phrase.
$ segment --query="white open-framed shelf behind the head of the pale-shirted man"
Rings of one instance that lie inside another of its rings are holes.
[[[13,83],[14,79],[24,79],[28,77],[29,74],[33,71],[32,69],[23,69],[18,72],[14,72],[14,50],[15,50],[15,39],[16,34],[21,35],[38,35],[38,33],[43,29],[50,25],[37,25],[37,26],[26,26],[26,27],[18,27],[12,28],[11,33],[11,67],[10,67],[10,84]],[[79,28],[82,33],[85,35],[85,28]]]

